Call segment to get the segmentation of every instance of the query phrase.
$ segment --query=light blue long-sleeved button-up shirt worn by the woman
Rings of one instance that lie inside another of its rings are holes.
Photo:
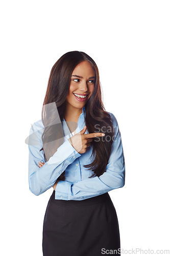
[[[76,134],[85,126],[85,107],[79,116]],[[30,135],[34,133],[34,145],[29,146],[29,188],[38,196],[53,187],[57,178],[65,170],[65,180],[59,180],[56,186],[55,199],[59,200],[84,200],[107,193],[108,191],[125,185],[125,159],[122,139],[115,116],[108,112],[112,118],[115,135],[111,146],[111,155],[106,167],[106,172],[100,177],[89,178],[93,172],[83,167],[94,160],[91,157],[92,146],[87,147],[84,154],[79,154],[70,144],[68,138],[72,136],[63,118],[62,127],[64,142],[58,147],[57,152],[47,161],[44,160],[42,147],[43,123],[38,120],[33,123]],[[88,134],[86,130],[85,134]],[[105,136],[103,137],[105,138]],[[42,167],[38,163],[45,162]]]

